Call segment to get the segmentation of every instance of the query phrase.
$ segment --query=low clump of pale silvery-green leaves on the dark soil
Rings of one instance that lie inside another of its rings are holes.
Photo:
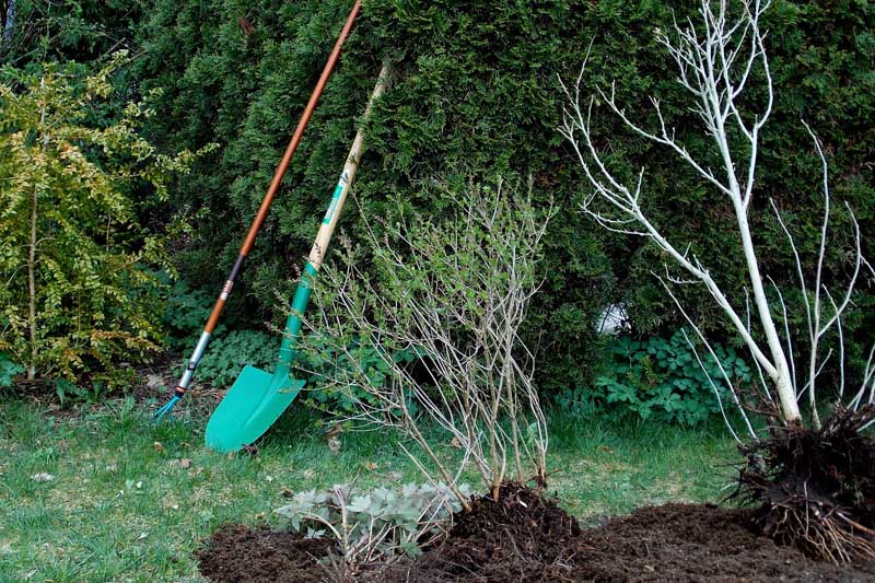
[[[467,485],[459,491],[470,498]],[[299,492],[275,512],[310,538],[337,541],[346,569],[375,559],[416,556],[420,548],[445,535],[462,504],[443,482],[405,485],[400,492],[385,487],[357,492],[351,485],[329,491]]]

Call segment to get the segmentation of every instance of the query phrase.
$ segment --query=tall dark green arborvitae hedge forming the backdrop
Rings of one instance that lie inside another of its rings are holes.
[[[395,195],[421,212],[441,213],[443,193],[458,190],[470,177],[497,175],[530,182],[537,201],[552,198],[565,209],[550,226],[546,281],[530,319],[528,343],[539,350],[542,386],[568,386],[591,374],[598,345],[593,322],[608,302],[627,302],[639,333],[673,328],[674,307],[650,275],[662,259],[640,241],[607,237],[574,212],[585,193],[556,130],[563,105],[557,75],[576,75],[592,43],[584,82],[604,86],[616,80],[618,101],[646,124],[649,95],[682,103],[655,33],[670,25],[672,9],[681,19],[692,4],[365,1],[229,313],[261,317],[258,311],[277,305],[275,290],[292,289],[294,266],[308,249],[380,62],[388,58],[396,79],[368,123],[369,152],[355,187],[364,213],[384,214],[384,201]],[[150,126],[153,137],[174,148],[221,144],[175,194],[180,202],[210,209],[199,225],[201,243],[183,257],[191,280],[214,284],[224,277],[350,7],[351,1],[152,0],[144,11],[138,75],[143,88],[166,90],[158,106],[162,115]],[[805,259],[816,253],[821,218],[819,167],[800,118],[827,145],[836,198],[853,206],[864,240],[872,234],[875,8],[851,0],[775,0],[768,26],[778,101],[766,129],[757,203],[774,197],[797,241],[807,242],[801,249]],[[664,113],[688,148],[701,151],[705,138],[686,131],[696,127],[693,114],[680,107]],[[620,144],[612,160],[629,172],[649,167],[651,214],[661,228],[691,238],[725,288],[742,294],[743,273],[732,252],[738,243],[725,229],[728,209],[703,215],[702,208],[721,208],[702,203],[714,196],[707,185],[691,175],[678,179],[676,160],[625,132],[618,120],[595,124],[599,135]],[[361,223],[350,207],[343,228],[354,237]],[[756,241],[765,267],[793,288],[780,229],[768,212],[757,214],[765,217]],[[837,211],[833,224],[841,220]],[[832,232],[841,236],[840,229]],[[832,259],[839,268],[829,277],[840,279],[845,264]],[[871,305],[867,285],[858,301]],[[243,310],[244,303],[256,311]],[[719,325],[715,316],[695,315],[707,327]],[[872,323],[865,324],[853,323],[847,336],[862,339]]]

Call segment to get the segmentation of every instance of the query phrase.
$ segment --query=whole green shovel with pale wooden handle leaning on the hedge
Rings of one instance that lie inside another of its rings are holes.
[[[387,75],[388,70],[384,66],[365,108],[365,117],[373,102],[383,94]],[[313,282],[322,267],[347,194],[359,170],[363,143],[364,136],[359,130],[325,219],[319,225],[301,282],[295,290],[292,313],[285,322],[285,333],[280,345],[277,370],[270,374],[252,365],[245,366],[207,423],[207,446],[217,452],[236,452],[260,438],[279,419],[305,384],[303,380],[291,376],[294,347],[301,334],[301,315],[306,310]]]

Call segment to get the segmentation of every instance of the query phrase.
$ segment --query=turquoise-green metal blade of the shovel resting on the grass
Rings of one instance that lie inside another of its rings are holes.
[[[298,396],[304,381],[288,369],[273,374],[245,366],[207,423],[207,446],[220,453],[236,452],[270,429]]]

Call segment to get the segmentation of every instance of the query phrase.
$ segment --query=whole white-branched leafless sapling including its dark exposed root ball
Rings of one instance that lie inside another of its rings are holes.
[[[749,217],[751,201],[756,198],[761,131],[774,103],[762,25],[769,5],[770,2],[760,0],[703,0],[699,22],[690,20],[685,26],[676,23],[673,34],[660,33],[662,44],[677,66],[678,82],[692,95],[692,110],[711,138],[713,152],[708,156],[695,158],[679,142],[658,100],[651,100],[656,123],[655,128],[649,129],[629,117],[617,103],[612,86],[609,91],[598,90],[596,95],[582,102],[580,78],[575,86],[563,84],[568,102],[561,132],[573,147],[586,182],[593,188],[584,198],[583,212],[609,231],[645,237],[663,252],[668,264],[680,267],[684,276],[673,273],[666,265],[665,271],[656,277],[712,358],[712,345],[680,304],[673,284],[704,285],[749,350],[759,380],[754,383],[752,394],[732,383],[722,368],[716,377],[708,368],[702,369],[718,398],[721,392],[716,386],[724,385],[752,442],[752,445],[743,445],[749,463],[740,475],[742,495],[762,504],[760,524],[763,530],[824,559],[875,558],[875,508],[872,504],[875,444],[862,434],[873,423],[875,347],[859,375],[859,385],[850,386],[842,329],[842,318],[854,306],[855,287],[866,276],[875,276],[875,271],[863,257],[860,228],[852,209],[845,205],[844,211],[852,225],[852,248],[845,254],[848,278],[837,289],[825,277],[831,211],[827,160],[807,125],[821,164],[822,184],[819,186],[824,196],[819,253],[813,267],[803,265],[791,229],[774,201],[770,201],[796,266],[805,323],[802,341],[791,335],[789,314],[792,310],[784,301],[786,294],[760,267],[755,244],[757,232]],[[731,15],[735,12],[738,12],[737,18]],[[765,84],[761,100],[749,98],[750,92],[746,91],[754,80]],[[751,103],[760,101],[760,107],[755,109]],[[721,287],[719,275],[700,261],[691,243],[669,241],[649,218],[642,200],[646,189],[644,168],[631,183],[611,171],[591,131],[594,109],[602,103],[634,135],[677,156],[728,203],[740,241],[738,265],[746,269],[749,285],[749,294],[740,302]],[[716,170],[705,160],[718,162]],[[824,357],[819,349],[830,336],[835,338],[838,354],[830,351]],[[818,375],[830,358],[839,360],[839,380],[837,386],[825,390],[831,399],[829,413],[832,417],[821,422]],[[698,353],[697,359],[701,363]],[[810,429],[806,429],[801,404],[807,404],[805,413]],[[733,427],[733,417],[723,409],[724,405],[721,403],[724,419],[740,444],[739,431]],[[769,420],[769,438],[762,439],[755,429],[757,424],[751,412],[765,413]]]

